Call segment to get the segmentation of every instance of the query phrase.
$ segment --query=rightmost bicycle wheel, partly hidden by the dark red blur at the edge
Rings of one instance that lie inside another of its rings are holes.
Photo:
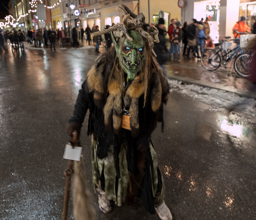
[[[234,68],[236,72],[244,77],[249,77],[250,73],[250,63],[252,61],[252,57],[250,54],[241,54],[238,56],[234,62]]]

